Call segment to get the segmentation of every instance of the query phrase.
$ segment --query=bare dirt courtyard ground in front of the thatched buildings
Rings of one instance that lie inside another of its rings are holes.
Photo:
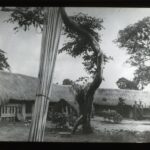
[[[82,135],[76,133],[68,137],[61,136],[60,131],[52,130],[47,122],[45,142],[150,142],[150,120],[123,120],[120,124],[104,122],[103,118],[92,118],[94,133]],[[24,123],[0,122],[0,141],[27,141],[30,125]]]

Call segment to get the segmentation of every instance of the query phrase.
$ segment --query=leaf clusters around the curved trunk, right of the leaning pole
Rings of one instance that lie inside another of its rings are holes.
[[[101,36],[98,32],[104,29],[102,23],[103,19],[88,16],[87,14],[79,13],[70,17],[74,22],[84,28],[92,36],[95,37],[97,42],[101,42]],[[96,72],[96,60],[97,54],[93,51],[89,40],[85,36],[79,35],[71,28],[64,26],[63,35],[65,35],[70,41],[64,43],[63,47],[59,50],[61,52],[67,52],[72,57],[82,56],[83,65],[85,70],[89,74],[95,74]],[[104,61],[107,62],[111,57],[105,55]]]

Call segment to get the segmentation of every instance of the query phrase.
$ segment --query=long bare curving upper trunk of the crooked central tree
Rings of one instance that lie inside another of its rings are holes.
[[[93,95],[94,92],[96,91],[96,89],[99,87],[99,85],[102,82],[103,61],[104,61],[103,52],[101,51],[99,43],[97,42],[95,37],[93,37],[88,31],[83,29],[77,23],[72,21],[72,19],[67,16],[66,11],[63,7],[60,8],[60,11],[61,11],[61,16],[64,21],[64,24],[67,27],[73,29],[78,34],[87,37],[89,42],[91,43],[91,47],[92,47],[93,51],[95,51],[97,54],[97,72],[96,72],[95,78],[94,78],[93,82],[91,83],[91,85],[88,89],[88,92],[87,92],[87,93],[90,93]]]

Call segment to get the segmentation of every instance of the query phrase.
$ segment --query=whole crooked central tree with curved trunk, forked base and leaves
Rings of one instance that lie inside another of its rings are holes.
[[[101,39],[97,31],[103,28],[103,20],[82,13],[68,17],[64,8],[60,10],[65,24],[63,34],[69,41],[64,44],[59,52],[65,51],[73,57],[82,56],[85,69],[93,78],[93,81],[86,86],[74,86],[77,92],[76,99],[81,108],[81,116],[73,131],[76,130],[78,125],[82,124],[84,133],[88,133],[92,131],[90,117],[93,97],[103,79],[103,64],[109,59],[103,54],[99,46]],[[43,8],[2,8],[2,11],[11,11],[8,22],[18,23],[19,26],[15,27],[15,30],[22,27],[26,31],[31,26],[42,30]]]

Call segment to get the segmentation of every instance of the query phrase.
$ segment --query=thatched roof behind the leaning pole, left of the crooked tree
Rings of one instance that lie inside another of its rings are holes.
[[[37,86],[37,78],[0,71],[0,104],[9,100],[35,100]],[[60,99],[75,100],[71,86],[53,84],[51,101]]]

